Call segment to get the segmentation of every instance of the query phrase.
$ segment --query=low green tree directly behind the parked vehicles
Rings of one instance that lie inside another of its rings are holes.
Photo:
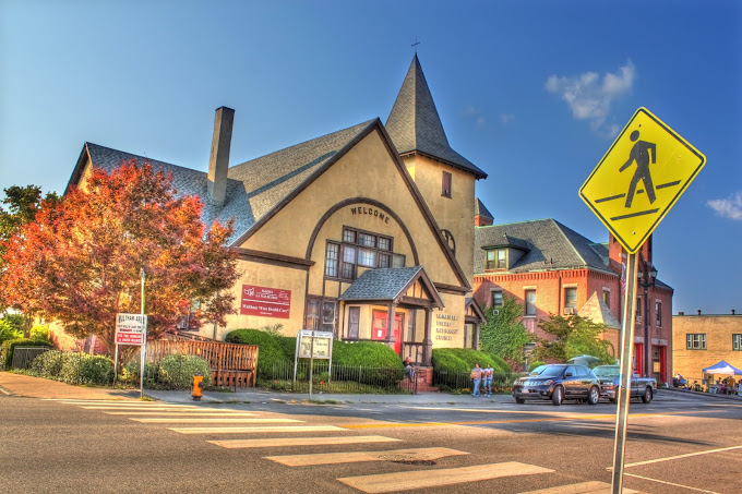
[[[534,357],[543,361],[566,362],[569,359],[588,354],[600,359],[600,363],[615,362],[613,345],[602,339],[606,325],[593,320],[572,315],[551,315],[538,325],[551,338],[540,339]]]

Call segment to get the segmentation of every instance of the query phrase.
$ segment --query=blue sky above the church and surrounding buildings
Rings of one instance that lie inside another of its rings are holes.
[[[153,3],[153,4],[151,4]],[[62,192],[83,143],[207,169],[385,121],[418,56],[495,222],[606,228],[577,191],[638,107],[707,157],[655,232],[673,312],[742,309],[742,2],[0,1],[0,188]]]

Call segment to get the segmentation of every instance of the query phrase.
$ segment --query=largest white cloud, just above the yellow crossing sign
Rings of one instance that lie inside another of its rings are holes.
[[[631,93],[636,80],[636,68],[629,60],[617,73],[600,77],[596,72],[585,72],[576,76],[550,75],[546,83],[549,93],[561,96],[570,106],[577,120],[588,120],[596,131],[609,134],[617,132],[617,125],[603,128],[611,111],[611,104]]]

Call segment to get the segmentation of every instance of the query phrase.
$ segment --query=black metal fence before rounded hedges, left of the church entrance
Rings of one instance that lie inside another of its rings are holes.
[[[417,381],[402,368],[366,368],[332,365],[326,360],[314,361],[312,391],[322,394],[416,394]],[[271,366],[270,375],[258,375],[258,385],[271,389],[309,393],[310,362],[279,362]]]

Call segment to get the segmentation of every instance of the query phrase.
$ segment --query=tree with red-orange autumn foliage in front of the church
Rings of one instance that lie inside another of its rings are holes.
[[[131,160],[110,173],[94,168],[82,188],[5,242],[0,300],[58,321],[72,336],[96,335],[112,353],[116,314],[142,309],[144,269],[149,339],[191,306],[191,324],[224,325],[238,278],[226,248],[232,229],[217,221],[206,231],[202,208],[148,162]]]

